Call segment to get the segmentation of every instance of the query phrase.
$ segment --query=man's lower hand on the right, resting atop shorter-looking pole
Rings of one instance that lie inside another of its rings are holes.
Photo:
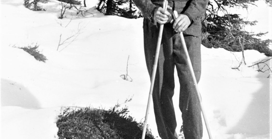
[[[191,20],[185,14],[180,14],[173,24],[173,28],[176,32],[185,31],[191,24]]]

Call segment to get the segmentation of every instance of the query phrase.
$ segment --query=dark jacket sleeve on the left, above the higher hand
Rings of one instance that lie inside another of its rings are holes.
[[[152,4],[150,0],[132,0],[134,4],[140,9],[144,18],[150,19],[153,15],[153,10],[156,5]]]

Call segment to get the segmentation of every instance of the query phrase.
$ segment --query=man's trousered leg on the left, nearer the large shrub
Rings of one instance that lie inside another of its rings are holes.
[[[144,51],[150,79],[159,35],[159,27],[144,19]],[[159,62],[153,89],[153,105],[159,135],[162,139],[175,139],[177,126],[172,102],[174,95],[174,61],[172,57],[172,25],[165,24]]]

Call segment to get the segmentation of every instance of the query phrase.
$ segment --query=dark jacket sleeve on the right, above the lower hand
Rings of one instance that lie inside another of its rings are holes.
[[[191,21],[195,21],[197,18],[202,17],[208,2],[209,0],[192,0],[183,14],[187,15]]]

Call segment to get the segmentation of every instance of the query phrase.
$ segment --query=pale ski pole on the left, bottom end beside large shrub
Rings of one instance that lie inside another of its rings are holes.
[[[163,1],[163,9],[166,10],[167,5],[168,5],[168,1],[164,0]],[[155,61],[154,61],[154,65],[153,65],[151,85],[150,85],[150,90],[149,90],[149,97],[148,97],[148,101],[147,101],[146,117],[144,119],[144,128],[143,128],[142,139],[144,139],[146,136],[147,118],[148,118],[148,114],[149,114],[150,101],[152,98],[152,92],[153,92],[155,76],[156,76],[156,71],[157,71],[157,66],[158,66],[159,53],[160,53],[160,43],[162,42],[162,32],[163,32],[163,24],[160,25],[160,30],[159,30],[159,37],[158,37],[157,48],[156,48],[156,53],[155,53]]]

